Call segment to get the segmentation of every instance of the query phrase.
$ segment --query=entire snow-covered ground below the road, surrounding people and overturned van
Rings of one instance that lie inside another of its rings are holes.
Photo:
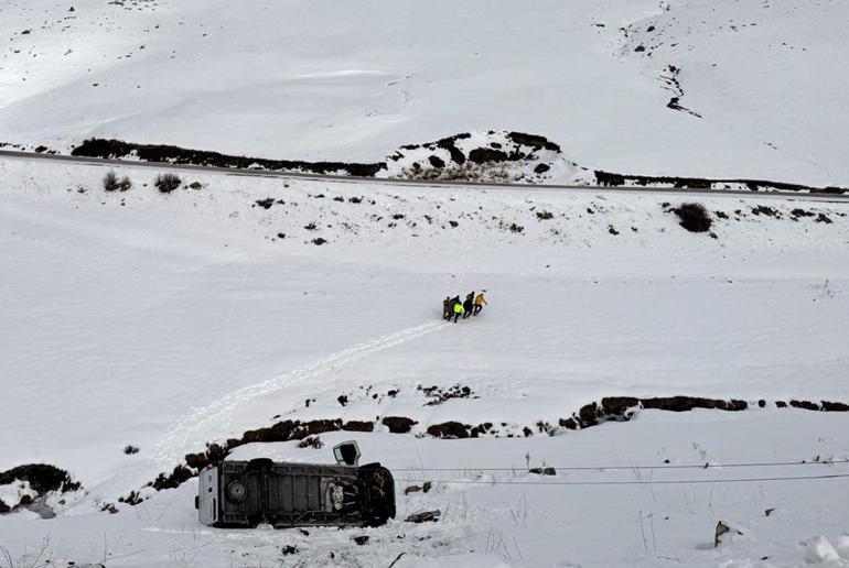
[[[490,480],[477,470],[515,467],[497,479],[534,481],[526,454],[531,467],[561,468],[847,459],[848,415],[772,404],[849,398],[845,201],[222,175],[185,177],[200,188],[163,195],[142,168],[119,171],[133,188],[107,194],[105,172],[0,162],[0,470],[46,462],[83,483],[57,518],[0,516],[0,546],[13,557],[49,534],[54,559],[107,555],[107,566],[388,566],[402,551],[396,566],[756,566],[763,556],[762,566],[797,566],[800,540],[825,535],[838,546],[849,531],[842,478],[438,484],[400,494],[399,518],[366,532],[363,548],[351,542],[356,531],[202,528],[194,482],[147,489],[136,507],[116,503],[207,441],[287,418],[375,422],[374,434],[321,438],[357,438],[399,480]],[[687,232],[664,205],[684,200],[711,211],[716,239]],[[440,320],[445,295],[481,288],[491,303],[482,316]],[[468,386],[470,397],[429,405],[419,386],[433,385]],[[742,414],[646,411],[554,437],[535,428],[602,396],[673,394],[770,403]],[[418,424],[389,434],[384,416]],[[447,420],[491,422],[499,437],[416,436]],[[525,426],[535,435],[522,437]],[[127,445],[140,451],[125,455]],[[234,457],[257,455],[330,461],[326,447],[295,443]],[[562,470],[554,480],[849,472],[767,469]],[[404,523],[419,509],[444,517]],[[743,536],[714,551],[720,520]],[[301,553],[283,558],[286,544]]]

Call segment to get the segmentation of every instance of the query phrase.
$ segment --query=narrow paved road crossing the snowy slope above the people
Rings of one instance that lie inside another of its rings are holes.
[[[133,162],[127,160],[105,160],[100,157],[80,157],[71,155],[36,154],[34,152],[14,152],[0,150],[0,160],[36,160],[47,162],[69,162],[82,165],[109,167],[147,167],[178,172],[195,172],[202,174],[225,174],[246,177],[275,177],[280,179],[299,179],[307,182],[330,182],[334,184],[369,184],[389,186],[442,187],[450,189],[513,189],[513,190],[574,190],[591,193],[632,193],[632,194],[686,194],[694,196],[745,196],[772,199],[797,199],[802,201],[849,203],[849,194],[807,194],[799,192],[750,192],[733,189],[702,189],[690,187],[653,186],[653,187],[611,187],[595,185],[556,185],[556,184],[508,184],[482,182],[438,182],[423,179],[397,179],[380,177],[356,177],[346,175],[299,174],[273,172],[267,170],[237,170],[232,167],[198,166],[190,164],[170,164],[162,162]]]

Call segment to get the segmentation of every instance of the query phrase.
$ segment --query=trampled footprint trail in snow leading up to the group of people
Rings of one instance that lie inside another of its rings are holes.
[[[323,375],[334,369],[359,361],[368,356],[418,339],[444,327],[443,321],[430,321],[420,326],[369,339],[300,369],[234,391],[218,401],[196,408],[165,434],[153,451],[153,458],[172,465],[181,461],[186,454],[198,451],[207,441],[222,439],[230,432],[233,419],[239,407],[260,396],[280,389]],[[241,433],[237,433],[241,434]]]

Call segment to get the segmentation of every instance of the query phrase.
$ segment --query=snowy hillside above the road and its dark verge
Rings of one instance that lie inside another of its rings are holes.
[[[839,0],[7,0],[0,142],[379,162],[506,130],[589,170],[846,186],[847,19]]]

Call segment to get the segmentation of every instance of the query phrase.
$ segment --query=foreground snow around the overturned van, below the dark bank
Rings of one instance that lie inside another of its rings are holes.
[[[712,483],[721,479],[847,474],[847,465],[653,470],[649,466],[849,458],[849,415],[805,411],[647,411],[625,425],[578,435],[522,439],[433,440],[391,434],[335,433],[355,438],[368,458],[396,469],[399,489],[434,482],[428,493],[398,495],[398,518],[379,528],[211,529],[196,522],[196,482],[163,491],[116,515],[71,513],[51,521],[20,513],[0,517],[3,546],[32,559],[43,543],[56,566],[74,560],[106,566],[389,566],[396,567],[798,567],[807,543],[825,536],[847,556],[847,478]],[[236,458],[331,461],[330,450],[297,443],[248,446]],[[544,463],[625,467],[527,473]],[[431,471],[447,468],[448,471]],[[506,468],[490,471],[486,468]],[[405,482],[402,480],[415,480]],[[699,483],[664,484],[668,480]],[[569,485],[616,482],[642,484]],[[647,484],[647,481],[657,483]],[[539,483],[539,484],[531,484]],[[440,510],[438,523],[411,524],[418,511]],[[770,511],[772,510],[772,511]],[[767,511],[769,514],[766,513]],[[713,548],[717,523],[733,531]],[[364,546],[353,537],[368,535]],[[286,546],[297,554],[283,555]],[[24,565],[25,566],[25,565]]]

